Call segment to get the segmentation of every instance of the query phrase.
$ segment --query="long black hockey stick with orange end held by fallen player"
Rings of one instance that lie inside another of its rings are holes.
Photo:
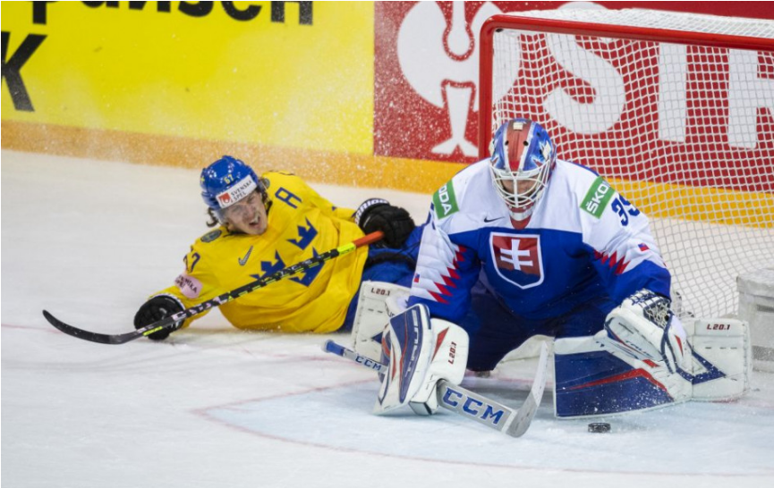
[[[339,246],[338,248],[330,249],[316,257],[310,257],[309,259],[305,259],[300,263],[296,263],[295,265],[287,266],[286,268],[278,270],[275,273],[271,273],[271,274],[268,274],[267,276],[259,278],[254,282],[249,282],[246,285],[243,285],[234,290],[226,291],[225,293],[223,293],[222,295],[218,295],[214,299],[208,299],[207,301],[201,302],[199,305],[186,308],[185,310],[177,312],[172,316],[163,318],[157,322],[154,322],[153,324],[148,324],[145,327],[137,329],[136,331],[133,331],[133,332],[125,332],[125,333],[119,333],[119,334],[104,334],[104,333],[98,333],[98,332],[89,332],[89,331],[84,331],[82,329],[79,329],[77,327],[73,327],[72,325],[64,324],[64,322],[57,319],[55,316],[52,316],[46,310],[43,310],[43,316],[46,317],[46,320],[50,324],[54,325],[60,331],[66,334],[72,335],[73,337],[83,339],[84,341],[99,342],[100,344],[123,344],[124,342],[134,341],[135,339],[149,335],[153,332],[169,329],[178,321],[185,320],[192,316],[197,316],[200,313],[204,312],[205,310],[208,310],[213,307],[218,307],[233,299],[238,299],[245,293],[250,293],[251,291],[258,290],[259,288],[263,288],[268,284],[271,284],[273,282],[278,282],[279,280],[287,278],[288,276],[293,276],[293,274],[301,273],[302,271],[308,271],[311,268],[322,265],[326,261],[329,261],[335,257],[349,254],[356,248],[361,248],[363,246],[376,242],[380,240],[382,237],[384,237],[384,234],[381,231],[371,232],[370,234],[363,236],[360,239],[353,240],[352,242],[348,244],[344,244],[343,246]]]

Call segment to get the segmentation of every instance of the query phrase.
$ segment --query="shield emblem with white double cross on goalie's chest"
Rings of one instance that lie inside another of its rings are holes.
[[[503,280],[521,289],[532,288],[543,282],[539,235],[492,232],[489,244],[492,263]]]

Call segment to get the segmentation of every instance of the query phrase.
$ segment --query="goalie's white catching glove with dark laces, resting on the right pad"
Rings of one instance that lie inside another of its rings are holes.
[[[614,308],[597,339],[641,360],[666,364],[670,373],[684,368],[690,352],[685,329],[669,309],[671,301],[651,290],[639,290]]]

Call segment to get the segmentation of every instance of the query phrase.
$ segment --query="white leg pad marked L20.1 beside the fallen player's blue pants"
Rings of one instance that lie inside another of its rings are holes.
[[[388,300],[408,297],[410,289],[387,282],[362,282],[352,329],[353,349],[378,362],[381,358],[382,332],[391,316]]]

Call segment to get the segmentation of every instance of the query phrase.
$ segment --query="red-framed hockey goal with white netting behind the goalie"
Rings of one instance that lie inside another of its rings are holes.
[[[508,13],[480,46],[481,158],[503,122],[540,122],[649,216],[678,315],[735,315],[736,276],[774,266],[774,21]]]

